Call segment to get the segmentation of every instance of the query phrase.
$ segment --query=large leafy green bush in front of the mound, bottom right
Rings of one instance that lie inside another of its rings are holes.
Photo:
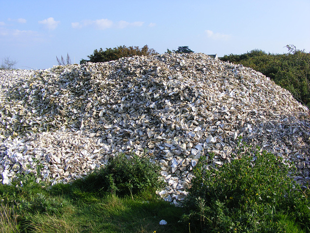
[[[284,232],[279,219],[296,232],[309,231],[310,199],[288,176],[289,168],[266,151],[243,146],[241,154],[218,169],[200,159],[183,220],[208,233]]]

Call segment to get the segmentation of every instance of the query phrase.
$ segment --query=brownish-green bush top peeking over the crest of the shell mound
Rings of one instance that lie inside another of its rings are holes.
[[[148,56],[154,54],[157,54],[157,52],[154,49],[149,49],[147,45],[143,46],[141,49],[139,49],[138,46],[126,47],[124,45],[115,47],[113,49],[106,48],[106,50],[100,48],[100,50],[94,50],[93,54],[88,56],[90,60],[82,59],[80,61],[80,64],[84,64],[86,62],[108,62],[112,60],[117,60],[121,57],[132,57],[135,55]]]

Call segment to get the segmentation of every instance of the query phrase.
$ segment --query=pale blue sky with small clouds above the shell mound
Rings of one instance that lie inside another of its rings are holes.
[[[0,62],[44,69],[69,53],[148,45],[159,53],[310,52],[310,0],[0,0]]]

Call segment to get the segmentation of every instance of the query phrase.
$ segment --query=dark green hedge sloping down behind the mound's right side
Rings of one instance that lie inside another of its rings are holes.
[[[294,98],[310,106],[310,53],[287,45],[289,53],[270,54],[252,50],[241,55],[230,54],[222,61],[239,63],[251,67],[270,77],[276,84],[289,90]]]

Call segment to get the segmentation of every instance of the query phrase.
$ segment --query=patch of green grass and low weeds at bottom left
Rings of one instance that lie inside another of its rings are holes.
[[[182,231],[183,209],[149,191],[118,196],[84,191],[79,182],[42,188],[0,185],[1,228],[35,233],[157,233]],[[159,225],[165,219],[168,224]],[[1,230],[2,230],[1,229]]]

